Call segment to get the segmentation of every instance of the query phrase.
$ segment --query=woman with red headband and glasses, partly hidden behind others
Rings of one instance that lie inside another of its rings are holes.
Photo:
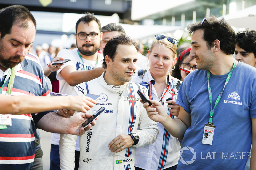
[[[189,57],[190,50],[191,48],[185,49],[180,54],[175,64],[175,69],[172,70],[172,76],[175,78],[178,78],[180,81],[183,81],[184,78],[188,75],[188,73],[180,70],[179,68],[188,70],[190,72],[193,70],[196,70],[196,66],[197,66],[196,59]]]

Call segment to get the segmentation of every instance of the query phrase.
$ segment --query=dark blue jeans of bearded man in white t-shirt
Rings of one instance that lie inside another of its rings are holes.
[[[74,170],[78,170],[79,167],[79,151],[75,151],[75,168]],[[55,144],[51,144],[51,152],[50,152],[50,170],[60,170],[60,154],[59,154],[59,146]]]

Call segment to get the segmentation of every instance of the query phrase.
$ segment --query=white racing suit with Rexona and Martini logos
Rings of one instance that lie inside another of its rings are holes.
[[[80,136],[80,170],[134,170],[135,148],[152,144],[158,136],[156,122],[149,119],[146,109],[139,101],[137,90],[145,96],[148,91],[141,85],[127,82],[121,86],[108,85],[104,73],[94,80],[74,87],[73,95],[87,93],[100,95],[97,105],[88,113],[94,114],[105,107],[96,120],[96,125]],[[74,92],[75,91],[75,92]],[[115,153],[108,144],[118,135],[136,133],[138,144]],[[76,136],[60,135],[60,168],[74,169]]]

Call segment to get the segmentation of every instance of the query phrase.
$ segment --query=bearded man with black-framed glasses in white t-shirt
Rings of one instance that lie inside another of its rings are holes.
[[[73,86],[98,78],[105,69],[102,68],[101,61],[103,55],[98,53],[100,41],[102,39],[101,24],[93,14],[86,13],[76,22],[76,46],[75,49],[63,49],[57,56],[71,61],[64,63],[57,71],[59,80],[59,93],[71,95]],[[69,111],[61,113],[71,116]],[[78,138],[79,139],[79,138]],[[59,160],[59,140],[60,134],[52,134],[51,138],[51,166],[50,170],[60,169]],[[79,165],[79,140],[76,144],[76,167]]]

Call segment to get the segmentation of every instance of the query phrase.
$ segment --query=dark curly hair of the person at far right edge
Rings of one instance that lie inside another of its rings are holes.
[[[256,31],[246,29],[236,33],[236,45],[249,53],[253,53],[256,58]]]

